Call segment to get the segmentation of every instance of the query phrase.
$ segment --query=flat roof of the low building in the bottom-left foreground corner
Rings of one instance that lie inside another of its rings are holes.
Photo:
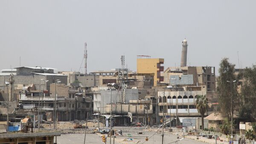
[[[49,133],[2,133],[0,138],[26,138],[26,137],[42,137],[42,136],[61,136],[60,132]]]

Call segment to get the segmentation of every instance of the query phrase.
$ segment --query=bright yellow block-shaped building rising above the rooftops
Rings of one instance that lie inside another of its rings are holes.
[[[164,59],[151,59],[150,56],[137,56],[137,73],[143,75],[154,75],[154,86],[163,82],[163,76],[160,76],[164,67]]]

